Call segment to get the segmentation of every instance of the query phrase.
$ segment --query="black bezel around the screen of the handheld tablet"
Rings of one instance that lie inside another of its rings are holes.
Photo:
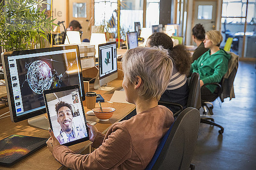
[[[81,142],[84,142],[84,141],[87,141],[89,140],[89,132],[88,132],[88,126],[87,126],[87,121],[86,121],[86,117],[85,117],[85,114],[84,114],[84,107],[83,107],[83,103],[82,103],[82,99],[81,99],[81,92],[79,90],[79,85],[71,85],[71,86],[66,86],[66,87],[63,87],[63,88],[53,88],[53,89],[49,89],[49,90],[45,90],[43,91],[43,94],[44,94],[44,102],[45,102],[45,106],[46,106],[46,111],[47,111],[47,115],[48,115],[48,119],[49,119],[49,125],[50,125],[50,128],[53,130],[52,128],[52,120],[51,120],[51,117],[50,117],[50,114],[49,114],[49,106],[48,106],[48,102],[47,102],[47,97],[46,95],[47,94],[52,94],[52,93],[57,93],[57,92],[61,92],[61,91],[69,91],[69,90],[78,90],[79,92],[79,97],[80,97],[80,105],[81,105],[81,108],[82,108],[82,114],[84,116],[84,124],[85,124],[85,127],[86,127],[86,131],[87,131],[87,136],[84,137],[84,138],[81,138],[81,139],[76,139],[74,141],[71,141],[71,142],[67,142],[67,143],[64,143],[62,145],[65,145],[65,146],[71,146],[71,145],[74,145],[74,144],[78,144],[78,143],[81,143]],[[56,136],[55,136],[56,137]]]

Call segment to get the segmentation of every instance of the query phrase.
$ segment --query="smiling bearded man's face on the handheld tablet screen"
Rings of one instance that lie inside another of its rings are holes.
[[[58,110],[58,123],[61,125],[61,130],[70,133],[72,130],[73,116],[70,108],[63,106]]]

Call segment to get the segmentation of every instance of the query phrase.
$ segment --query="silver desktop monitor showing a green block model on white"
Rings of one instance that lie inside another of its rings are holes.
[[[117,77],[116,42],[99,44],[99,72],[94,82],[94,89],[103,91],[113,90],[114,88],[112,87],[102,86]]]

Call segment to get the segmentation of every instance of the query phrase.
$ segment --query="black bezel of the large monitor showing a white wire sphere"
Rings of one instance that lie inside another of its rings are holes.
[[[46,113],[46,108],[42,108],[37,111],[32,111],[30,113],[26,113],[26,114],[17,116],[15,102],[14,102],[15,100],[14,100],[13,91],[12,91],[12,80],[11,80],[11,75],[10,75],[8,58],[12,57],[12,56],[17,56],[17,55],[43,53],[43,52],[60,51],[60,50],[68,50],[68,49],[76,49],[76,51],[77,51],[78,62],[79,62],[78,63],[79,64],[79,76],[80,76],[80,79],[83,80],[78,45],[63,45],[63,46],[50,47],[50,48],[38,48],[38,49],[23,50],[23,51],[9,51],[9,52],[4,52],[1,54],[2,61],[3,61],[4,77],[5,77],[5,81],[6,81],[8,104],[9,104],[12,122],[20,122],[20,121],[44,114],[44,113]],[[85,93],[84,93],[84,83],[83,82],[81,82],[81,91],[82,91],[82,100],[84,101]]]

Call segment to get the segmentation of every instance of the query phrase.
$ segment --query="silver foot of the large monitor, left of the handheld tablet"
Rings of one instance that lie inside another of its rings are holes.
[[[50,127],[49,120],[44,116],[44,114],[29,118],[28,124],[30,126],[38,127],[44,130],[48,130]]]

